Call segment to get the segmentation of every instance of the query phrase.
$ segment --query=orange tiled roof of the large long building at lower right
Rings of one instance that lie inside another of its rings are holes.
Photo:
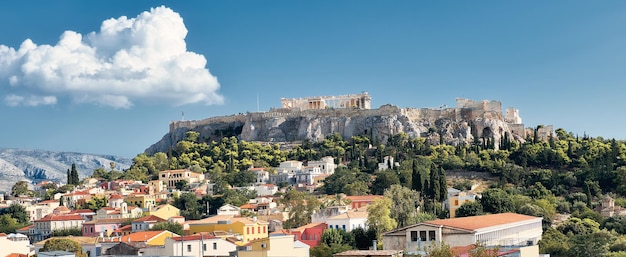
[[[487,214],[472,217],[462,217],[453,219],[440,219],[424,222],[431,225],[442,225],[447,227],[465,229],[465,230],[478,230],[481,228],[487,228],[492,226],[504,225],[508,223],[540,219],[539,217],[528,216],[517,213],[498,213]]]

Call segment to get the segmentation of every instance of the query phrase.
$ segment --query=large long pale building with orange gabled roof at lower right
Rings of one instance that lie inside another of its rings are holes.
[[[479,242],[490,246],[536,246],[543,232],[541,217],[498,213],[453,219],[431,220],[383,234],[383,248],[423,250],[431,243],[451,247]]]

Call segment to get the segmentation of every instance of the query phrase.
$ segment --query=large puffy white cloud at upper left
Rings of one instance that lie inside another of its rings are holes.
[[[56,45],[0,45],[0,90],[10,106],[76,103],[130,108],[134,101],[221,104],[203,55],[187,51],[187,29],[167,7],[102,22],[85,36],[65,31]]]

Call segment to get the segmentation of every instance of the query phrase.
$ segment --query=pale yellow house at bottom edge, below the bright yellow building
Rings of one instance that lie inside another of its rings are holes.
[[[239,257],[308,257],[309,245],[300,241],[294,241],[293,235],[271,236],[254,240],[245,247],[239,247]]]

